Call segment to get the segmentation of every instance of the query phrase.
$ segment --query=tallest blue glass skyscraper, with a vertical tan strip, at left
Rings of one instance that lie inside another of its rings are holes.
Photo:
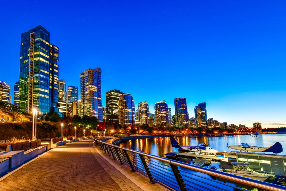
[[[59,112],[59,48],[41,25],[21,34],[19,106],[28,113],[37,108],[40,118]]]

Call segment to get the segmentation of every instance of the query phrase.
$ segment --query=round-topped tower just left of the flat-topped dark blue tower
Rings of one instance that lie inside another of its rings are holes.
[[[156,126],[167,127],[169,125],[168,104],[165,100],[156,102],[155,106],[155,124]]]

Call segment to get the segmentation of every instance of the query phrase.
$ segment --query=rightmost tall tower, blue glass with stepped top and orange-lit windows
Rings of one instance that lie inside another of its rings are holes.
[[[207,106],[206,102],[199,103],[195,108],[195,118],[197,128],[207,128]]]

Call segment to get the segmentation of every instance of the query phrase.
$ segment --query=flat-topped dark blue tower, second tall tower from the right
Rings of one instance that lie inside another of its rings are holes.
[[[188,127],[187,99],[175,98],[174,104],[175,104],[176,127],[187,128]]]

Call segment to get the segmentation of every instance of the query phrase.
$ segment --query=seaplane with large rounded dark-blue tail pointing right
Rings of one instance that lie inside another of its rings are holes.
[[[259,146],[250,146],[245,142],[242,142],[241,145],[228,146],[228,149],[235,149],[240,151],[251,151],[251,152],[273,152],[275,154],[283,151],[282,145],[280,142],[276,142],[274,145],[269,147],[259,147]]]

